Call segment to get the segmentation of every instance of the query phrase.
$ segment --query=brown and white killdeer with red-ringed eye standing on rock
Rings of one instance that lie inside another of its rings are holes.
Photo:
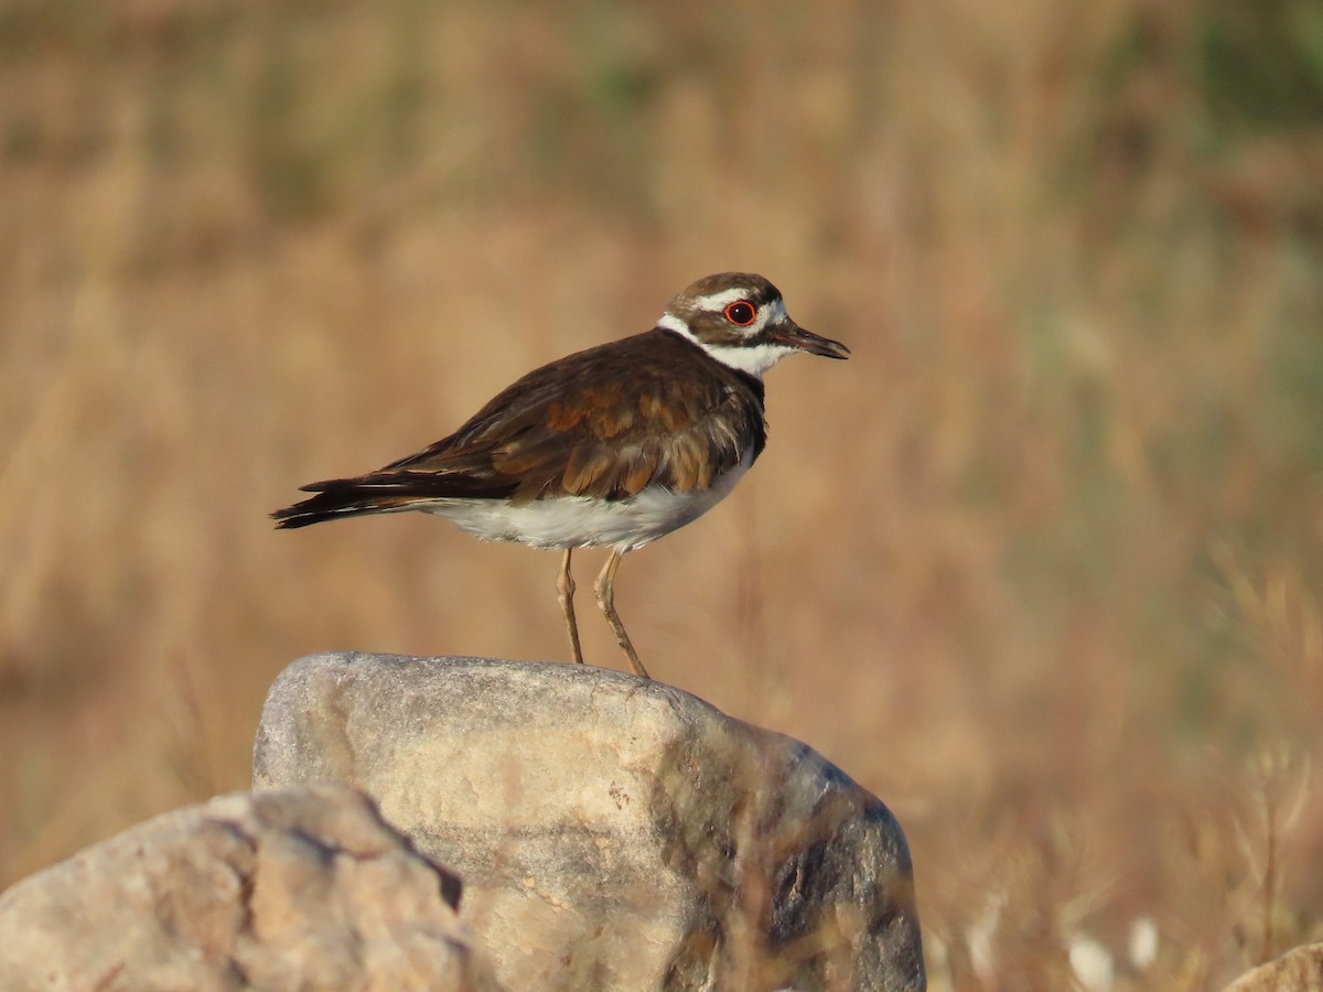
[[[795,324],[761,275],[721,272],[671,300],[656,327],[524,376],[448,438],[271,516],[280,528],[419,509],[487,541],[564,550],[556,590],[574,660],[576,548],[610,545],[597,602],[634,671],[648,677],[615,611],[626,552],[706,513],[767,439],[762,377],[794,352],[849,349]]]

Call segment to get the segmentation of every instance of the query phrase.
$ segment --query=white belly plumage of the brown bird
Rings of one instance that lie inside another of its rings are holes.
[[[437,500],[411,509],[446,517],[484,541],[520,541],[533,548],[615,545],[622,552],[631,552],[701,517],[730,493],[747,468],[746,460],[701,492],[672,492],[654,485],[638,496],[611,503],[587,496],[520,504]]]

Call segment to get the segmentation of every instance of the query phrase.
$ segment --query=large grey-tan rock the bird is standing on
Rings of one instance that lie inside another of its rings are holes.
[[[807,746],[586,665],[328,653],[259,788],[335,779],[464,878],[509,988],[923,987],[909,850]]]

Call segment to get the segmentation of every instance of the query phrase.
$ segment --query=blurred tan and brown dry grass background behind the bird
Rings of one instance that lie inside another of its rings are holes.
[[[1314,0],[5,0],[0,886],[299,655],[564,659],[554,554],[265,515],[750,269],[853,358],[626,559],[654,673],[893,807],[934,988],[1323,936],[1320,176]]]

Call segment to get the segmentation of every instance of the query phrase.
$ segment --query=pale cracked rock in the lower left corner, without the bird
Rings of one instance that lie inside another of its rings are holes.
[[[351,788],[222,796],[0,895],[0,988],[496,989],[458,902]]]

